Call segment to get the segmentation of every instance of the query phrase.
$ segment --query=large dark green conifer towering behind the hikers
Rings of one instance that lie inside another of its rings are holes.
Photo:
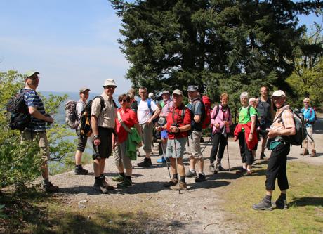
[[[122,18],[119,44],[134,88],[197,84],[216,99],[220,90],[258,94],[260,83],[288,86],[305,32],[297,15],[322,7],[319,1],[111,2]]]

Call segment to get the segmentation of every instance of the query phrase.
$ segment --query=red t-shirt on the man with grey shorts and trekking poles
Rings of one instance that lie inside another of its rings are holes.
[[[190,109],[186,108],[184,119],[182,118],[182,110],[185,108],[185,105],[180,105],[180,107],[171,108],[169,111],[169,115],[167,115],[167,131],[170,131],[171,124],[173,124],[173,111],[174,112],[174,120],[178,124],[178,126],[185,126],[187,124],[191,124],[191,116],[190,116]],[[183,138],[186,137],[188,134],[188,131],[180,131],[176,134],[169,134],[169,139],[173,138]]]

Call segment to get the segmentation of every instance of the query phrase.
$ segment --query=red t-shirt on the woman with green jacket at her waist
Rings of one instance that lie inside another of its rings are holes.
[[[136,123],[138,123],[138,118],[136,112],[131,110],[130,108],[124,110],[124,113],[122,114],[121,108],[118,110],[120,113],[121,119],[123,120],[124,124],[128,126],[130,129],[133,127]],[[126,131],[123,126],[119,123],[118,118],[116,119],[116,124],[117,124],[117,135],[118,135],[118,142],[123,143],[126,141],[126,138],[128,137],[128,131]]]

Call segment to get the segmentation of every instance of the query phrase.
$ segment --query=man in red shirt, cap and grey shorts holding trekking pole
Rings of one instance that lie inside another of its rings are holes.
[[[171,161],[171,172],[173,178],[164,186],[177,190],[178,174],[180,176],[180,190],[187,190],[185,183],[185,169],[183,164],[183,155],[187,141],[187,131],[191,128],[190,110],[183,104],[183,92],[179,89],[173,91],[173,108],[167,115],[167,123],[164,126],[158,126],[157,130],[167,129],[169,140],[167,141],[166,157]],[[176,167],[177,158],[177,167]],[[177,171],[178,169],[178,171]]]

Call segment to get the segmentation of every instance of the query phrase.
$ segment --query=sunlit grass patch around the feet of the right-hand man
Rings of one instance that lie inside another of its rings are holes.
[[[229,219],[240,223],[244,233],[322,233],[322,166],[288,162],[289,209],[259,212],[251,206],[260,202],[265,195],[266,167],[266,164],[258,164],[254,168],[256,176],[243,176],[228,186],[223,195],[227,197],[223,206],[230,213]],[[272,201],[279,194],[276,184]]]

